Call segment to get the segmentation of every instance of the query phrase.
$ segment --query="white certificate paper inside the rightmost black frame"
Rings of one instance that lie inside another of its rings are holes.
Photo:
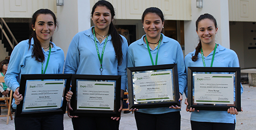
[[[195,74],[194,103],[233,104],[233,74]]]

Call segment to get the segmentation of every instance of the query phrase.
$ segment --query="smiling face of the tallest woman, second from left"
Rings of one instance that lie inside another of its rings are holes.
[[[96,31],[109,31],[112,20],[111,12],[105,6],[97,6],[93,12],[92,20]]]

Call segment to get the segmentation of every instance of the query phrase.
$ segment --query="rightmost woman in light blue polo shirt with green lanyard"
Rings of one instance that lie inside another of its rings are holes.
[[[236,52],[215,43],[218,32],[217,21],[210,14],[201,15],[196,21],[196,31],[200,38],[195,51],[185,56],[187,67],[239,67]],[[212,66],[211,66],[212,64]],[[241,93],[243,87],[241,85]],[[187,99],[185,104],[188,105]],[[228,111],[195,111],[190,108],[186,111],[192,112],[190,117],[192,129],[225,129],[231,130],[236,126],[236,115],[238,111],[230,107]]]

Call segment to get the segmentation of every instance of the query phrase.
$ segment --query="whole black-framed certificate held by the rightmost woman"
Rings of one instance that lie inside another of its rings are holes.
[[[241,111],[240,68],[188,67],[188,108]]]

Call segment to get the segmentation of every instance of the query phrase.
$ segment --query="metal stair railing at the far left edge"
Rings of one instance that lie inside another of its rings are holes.
[[[5,35],[7,41],[9,42],[9,44],[10,44],[12,50],[13,50],[14,46],[17,45],[18,42],[17,42],[16,38],[14,37],[14,35],[12,34],[11,30],[9,29],[9,27],[7,26],[7,24],[6,24],[5,20],[4,20],[4,18],[2,18],[2,17],[1,17],[1,23],[2,23],[2,24],[0,24],[0,29],[2,30],[2,33]],[[10,35],[11,35],[11,37],[12,37],[12,42],[11,42],[11,40],[9,39],[9,37],[7,36],[7,34],[6,34],[5,30],[4,30],[3,24],[5,25],[7,31],[10,33]]]

